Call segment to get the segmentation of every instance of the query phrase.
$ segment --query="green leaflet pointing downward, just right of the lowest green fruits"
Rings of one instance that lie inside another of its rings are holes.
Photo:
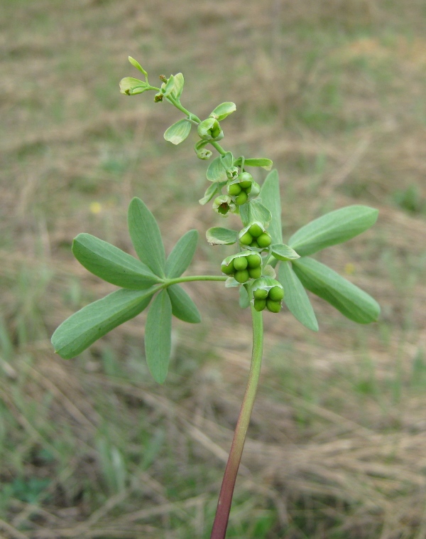
[[[283,262],[278,267],[278,281],[283,285],[284,301],[290,313],[308,329],[318,331],[314,309],[290,262]]]

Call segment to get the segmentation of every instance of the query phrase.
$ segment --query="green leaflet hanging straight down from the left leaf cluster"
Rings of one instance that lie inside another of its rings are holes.
[[[146,363],[155,382],[162,384],[167,376],[172,349],[172,304],[166,290],[155,297],[145,325]]]

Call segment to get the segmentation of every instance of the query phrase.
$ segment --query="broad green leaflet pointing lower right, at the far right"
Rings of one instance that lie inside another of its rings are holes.
[[[324,264],[313,258],[300,258],[293,262],[293,269],[305,288],[328,301],[347,318],[359,324],[378,319],[377,301]]]

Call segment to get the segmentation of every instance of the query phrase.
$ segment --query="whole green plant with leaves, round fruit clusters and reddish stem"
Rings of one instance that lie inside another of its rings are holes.
[[[218,152],[207,167],[210,184],[200,204],[213,200],[216,213],[222,217],[235,213],[240,216],[242,226],[241,230],[210,228],[206,238],[211,245],[235,245],[236,252],[222,262],[222,275],[182,277],[195,253],[197,232],[190,230],[183,235],[166,258],[155,218],[143,201],[133,198],[129,205],[129,233],[139,260],[92,235],[77,235],[72,245],[77,260],[90,272],[120,289],[70,316],[55,331],[52,342],[62,358],[73,358],[111,329],[141,313],[152,300],[145,329],[146,360],[153,378],[163,383],[168,372],[173,316],[190,323],[200,322],[197,306],[180,284],[223,281],[225,287],[239,287],[241,307],[251,307],[253,351],[212,529],[212,538],[219,539],[226,534],[231,498],[261,371],[262,311],[278,313],[284,301],[298,321],[317,331],[317,319],[305,292],[307,289],[359,324],[376,321],[380,312],[377,302],[310,255],[364,232],[376,222],[378,212],[366,206],[334,210],[297,230],[285,245],[278,173],[271,171],[272,161],[244,156],[235,158],[219,144],[224,137],[221,122],[236,110],[236,105],[222,103],[207,119],[201,120],[181,104],[182,73],[169,78],[161,75],[162,85],[155,87],[149,84],[141,65],[133,58],[129,60],[143,73],[144,80],[124,78],[120,83],[122,93],[136,95],[154,90],[155,102],[169,102],[185,114],[185,118],[165,131],[164,138],[180,144],[194,126],[198,135],[197,157],[209,160],[212,149]],[[249,167],[270,171],[262,186],[246,171]]]

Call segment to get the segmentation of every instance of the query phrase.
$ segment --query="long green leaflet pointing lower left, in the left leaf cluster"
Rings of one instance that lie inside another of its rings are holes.
[[[111,329],[130,320],[148,306],[158,287],[116,290],[72,314],[53,333],[52,344],[61,358],[75,358]]]

